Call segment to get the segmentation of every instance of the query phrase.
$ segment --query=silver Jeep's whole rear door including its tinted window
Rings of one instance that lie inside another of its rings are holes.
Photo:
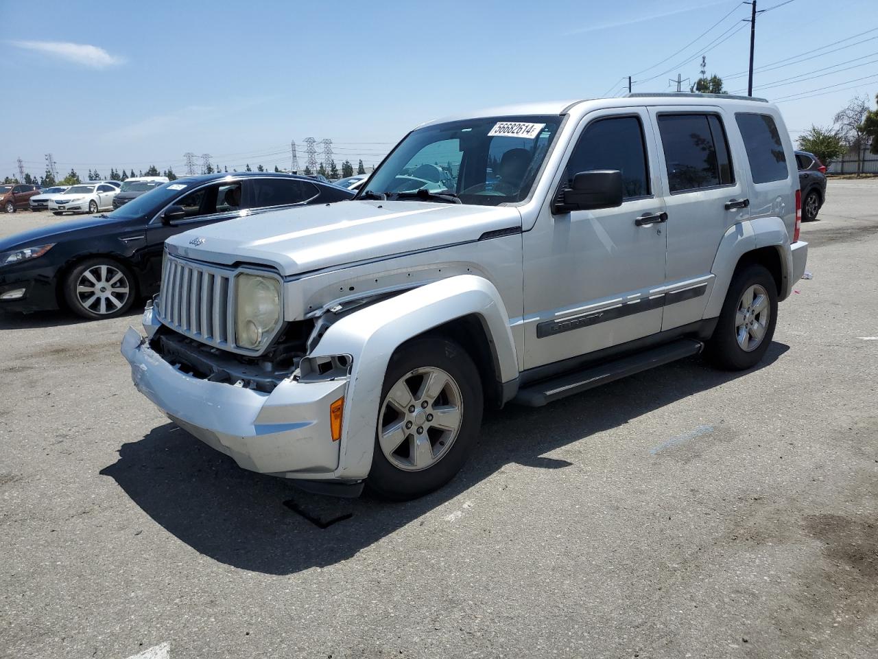
[[[666,199],[662,330],[702,319],[725,232],[749,217],[744,168],[732,158],[730,120],[716,106],[652,107]]]

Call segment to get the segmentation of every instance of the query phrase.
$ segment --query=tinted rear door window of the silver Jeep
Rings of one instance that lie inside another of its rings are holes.
[[[659,134],[672,193],[735,183],[729,143],[715,114],[660,114]]]

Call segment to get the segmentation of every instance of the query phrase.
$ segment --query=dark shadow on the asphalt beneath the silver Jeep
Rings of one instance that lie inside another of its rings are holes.
[[[770,366],[788,349],[771,344],[754,370]],[[461,473],[443,489],[407,503],[368,494],[359,499],[307,494],[284,479],[237,467],[174,424],[122,445],[119,460],[100,473],[201,554],[235,568],[290,575],[349,559],[508,464],[569,467],[566,460],[541,456],[747,373],[752,372],[718,372],[691,358],[544,408],[509,406],[490,413]]]

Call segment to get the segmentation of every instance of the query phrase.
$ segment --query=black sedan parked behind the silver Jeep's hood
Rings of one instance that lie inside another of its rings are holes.
[[[169,236],[278,206],[353,196],[335,185],[290,174],[178,178],[110,214],[0,240],[0,311],[69,308],[84,318],[121,315],[135,300],[158,290],[162,245]]]

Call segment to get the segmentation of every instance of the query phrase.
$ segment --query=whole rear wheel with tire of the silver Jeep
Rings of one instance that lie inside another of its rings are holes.
[[[764,265],[735,273],[708,342],[708,356],[727,371],[744,371],[765,356],[777,322],[777,286]]]

